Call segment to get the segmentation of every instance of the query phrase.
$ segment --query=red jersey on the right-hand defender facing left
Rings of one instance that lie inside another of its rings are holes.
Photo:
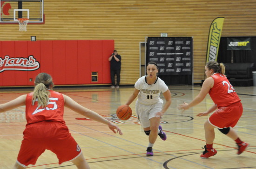
[[[214,86],[209,94],[217,107],[227,107],[241,101],[225,75],[215,73],[211,77],[214,80]]]

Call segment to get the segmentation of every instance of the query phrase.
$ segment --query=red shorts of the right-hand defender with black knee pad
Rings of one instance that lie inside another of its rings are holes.
[[[208,119],[211,125],[217,128],[235,127],[236,123],[243,114],[241,102],[234,103],[228,107],[220,107]]]

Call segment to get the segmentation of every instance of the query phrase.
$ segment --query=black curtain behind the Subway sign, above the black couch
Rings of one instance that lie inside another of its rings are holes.
[[[228,50],[228,38],[251,38],[251,50]],[[218,63],[256,63],[256,37],[221,37]]]

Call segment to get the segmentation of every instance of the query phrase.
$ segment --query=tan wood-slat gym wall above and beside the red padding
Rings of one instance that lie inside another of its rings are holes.
[[[194,83],[201,83],[213,19],[225,17],[222,36],[256,36],[255,9],[255,0],[44,0],[45,24],[26,32],[0,25],[0,40],[113,39],[122,57],[121,85],[128,85],[139,78],[145,37],[193,37]]]

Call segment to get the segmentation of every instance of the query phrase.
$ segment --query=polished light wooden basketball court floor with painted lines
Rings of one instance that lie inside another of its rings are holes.
[[[120,126],[123,135],[112,133],[107,126],[86,119],[65,108],[64,119],[75,140],[80,145],[91,169],[248,169],[256,168],[256,87],[235,87],[242,100],[244,112],[235,127],[239,137],[250,147],[243,154],[236,155],[233,140],[215,130],[214,148],[216,156],[201,159],[205,145],[203,124],[208,117],[196,117],[212,106],[209,95],[194,108],[184,113],[177,110],[183,101],[191,101],[200,91],[196,86],[169,86],[172,104],[162,119],[167,140],[157,138],[153,147],[154,156],[145,156],[148,137],[135,114],[135,101],[130,105],[133,116],[127,121],[116,118],[116,108],[125,104],[133,87],[112,89],[97,88],[55,88],[72,97],[81,105],[94,110],[104,118]],[[25,94],[32,89],[8,89],[0,91],[0,104]],[[162,95],[161,95],[162,97]],[[26,125],[25,107],[0,113],[0,169],[11,169],[16,161],[22,132]],[[46,150],[31,169],[75,169],[73,163],[58,164],[58,159]]]

